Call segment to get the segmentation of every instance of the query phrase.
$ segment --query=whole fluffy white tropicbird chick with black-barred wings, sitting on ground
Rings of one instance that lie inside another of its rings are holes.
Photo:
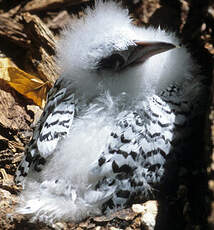
[[[20,213],[79,221],[153,194],[169,156],[185,148],[203,92],[178,44],[134,26],[114,2],[97,2],[64,31],[61,76],[17,170]]]

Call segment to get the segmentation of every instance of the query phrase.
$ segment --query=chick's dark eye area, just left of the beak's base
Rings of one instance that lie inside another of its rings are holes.
[[[120,70],[125,64],[124,58],[118,54],[112,54],[111,56],[103,58],[99,64],[98,64],[98,69],[109,69],[109,70]]]

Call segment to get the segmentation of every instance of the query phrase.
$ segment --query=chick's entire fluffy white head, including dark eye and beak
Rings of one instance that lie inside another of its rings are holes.
[[[138,96],[162,90],[186,71],[190,57],[177,45],[173,34],[133,25],[120,4],[98,1],[64,30],[57,61],[62,76],[83,94]]]

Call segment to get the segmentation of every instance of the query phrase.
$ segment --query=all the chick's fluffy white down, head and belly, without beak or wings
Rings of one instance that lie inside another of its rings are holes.
[[[134,102],[135,98],[159,93],[175,80],[177,84],[192,81],[193,62],[183,47],[155,55],[143,65],[114,76],[93,74],[100,57],[108,56],[112,49],[124,50],[134,40],[179,44],[171,33],[135,27],[128,11],[114,2],[99,1],[95,8],[86,11],[86,18],[71,24],[58,45],[57,63],[64,77],[63,87],[67,81],[72,82],[77,93],[92,98],[100,88],[104,89],[101,92],[109,90],[113,96],[125,92]],[[116,108],[112,98],[106,96],[99,106],[85,110],[75,120],[69,138],[59,144],[44,170],[28,175],[19,213],[33,214],[32,220],[47,223],[60,219],[79,221],[101,213],[101,205],[114,193],[114,187],[107,193],[95,191],[93,182],[99,175],[91,174],[90,168],[114,128]]]

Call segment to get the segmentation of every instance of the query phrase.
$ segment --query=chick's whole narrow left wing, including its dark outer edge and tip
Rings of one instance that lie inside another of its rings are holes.
[[[74,94],[67,92],[61,85],[59,79],[49,91],[47,104],[17,169],[16,182],[22,181],[23,177],[27,176],[32,163],[34,169],[40,171],[45,159],[55,151],[58,142],[69,133],[74,118]]]

